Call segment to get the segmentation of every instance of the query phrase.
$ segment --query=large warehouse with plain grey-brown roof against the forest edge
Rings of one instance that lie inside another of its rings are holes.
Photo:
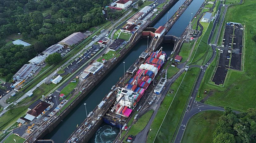
[[[75,32],[75,33],[69,35],[68,37],[66,37],[65,39],[61,40],[59,42],[59,44],[65,45],[65,46],[70,46],[73,44],[76,45],[76,44],[82,42],[85,38],[86,38],[86,36],[83,33]]]

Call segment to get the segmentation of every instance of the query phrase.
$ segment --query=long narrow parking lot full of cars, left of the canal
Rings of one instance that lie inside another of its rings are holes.
[[[85,47],[87,48],[87,47]],[[74,58],[74,61],[70,63],[64,71],[66,73],[73,73],[75,72],[78,68],[80,68],[84,63],[86,63],[89,59],[93,57],[94,54],[99,52],[100,49],[102,49],[99,44],[98,45],[92,45],[89,49],[84,51],[83,53],[80,53],[78,57]]]

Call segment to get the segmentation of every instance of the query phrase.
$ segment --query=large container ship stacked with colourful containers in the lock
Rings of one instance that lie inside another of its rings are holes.
[[[160,50],[146,57],[128,83],[117,89],[114,106],[103,117],[105,123],[125,128],[127,119],[165,62],[166,54]]]

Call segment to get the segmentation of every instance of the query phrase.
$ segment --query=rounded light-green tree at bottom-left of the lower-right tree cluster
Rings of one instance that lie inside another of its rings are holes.
[[[218,134],[213,140],[214,143],[235,143],[235,138],[233,134],[230,133],[221,133]]]

